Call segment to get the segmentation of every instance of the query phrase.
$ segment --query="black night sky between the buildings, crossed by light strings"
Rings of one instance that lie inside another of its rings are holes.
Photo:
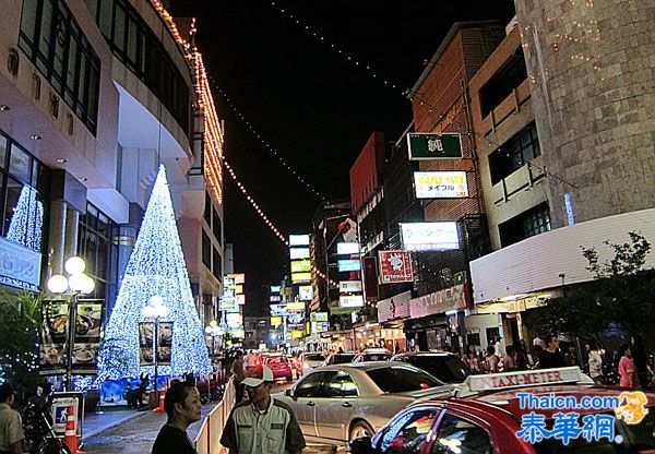
[[[174,0],[171,13],[196,17],[196,43],[225,119],[226,158],[287,235],[309,231],[320,199],[264,147],[218,89],[323,196],[346,198],[350,166],[371,132],[396,140],[412,121],[402,92],[418,80],[452,24],[509,22],[514,7],[511,0]],[[374,79],[362,69],[367,64]],[[288,273],[286,247],[227,172],[225,238],[235,244],[235,267],[247,275],[246,313],[264,313],[260,289]]]

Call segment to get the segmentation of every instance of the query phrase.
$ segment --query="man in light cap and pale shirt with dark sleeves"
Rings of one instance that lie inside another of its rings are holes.
[[[264,366],[241,382],[249,401],[233,408],[221,438],[230,454],[299,454],[306,446],[294,411],[271,397],[273,381]]]

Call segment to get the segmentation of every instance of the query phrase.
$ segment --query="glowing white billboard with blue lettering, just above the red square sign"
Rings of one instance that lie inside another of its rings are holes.
[[[460,249],[457,224],[454,220],[436,223],[401,223],[405,251],[450,251]]]

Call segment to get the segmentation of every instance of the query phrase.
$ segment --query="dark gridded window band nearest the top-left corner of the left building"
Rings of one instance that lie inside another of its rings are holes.
[[[63,0],[25,0],[19,46],[95,134],[100,60]]]

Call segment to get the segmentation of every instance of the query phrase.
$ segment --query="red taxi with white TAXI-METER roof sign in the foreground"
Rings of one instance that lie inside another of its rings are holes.
[[[529,443],[516,433],[522,430],[523,415],[545,415],[552,428],[555,414],[575,411],[586,415],[614,415],[612,409],[532,409],[521,408],[517,393],[536,396],[619,396],[623,391],[595,385],[580,368],[545,369],[488,375],[471,375],[449,399],[426,399],[403,409],[372,438],[350,443],[353,454],[426,453],[426,454],[501,454],[501,453],[655,453],[655,394],[644,393],[648,410],[641,422],[628,425],[615,420],[615,439],[584,438],[561,440],[544,438]],[[621,401],[623,402],[623,401]],[[621,404],[622,405],[622,404]],[[620,437],[619,437],[620,435]]]

